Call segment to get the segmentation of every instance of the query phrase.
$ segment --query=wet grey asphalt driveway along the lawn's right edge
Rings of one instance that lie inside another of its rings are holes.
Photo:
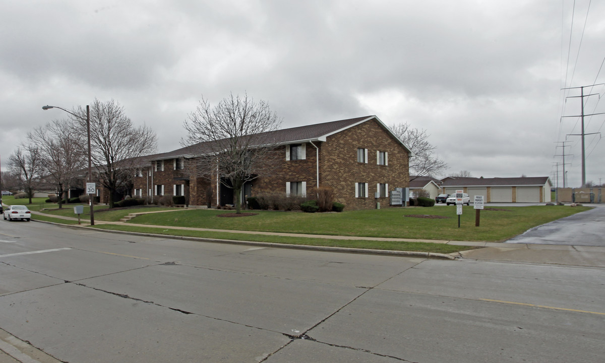
[[[506,243],[605,246],[605,204],[587,204],[590,211],[534,227]],[[569,207],[571,208],[571,207]]]

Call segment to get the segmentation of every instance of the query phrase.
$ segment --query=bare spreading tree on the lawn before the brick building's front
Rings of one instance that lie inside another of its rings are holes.
[[[234,189],[236,212],[241,212],[239,195],[246,181],[267,175],[275,167],[277,154],[273,132],[281,120],[267,102],[244,97],[226,97],[214,108],[203,97],[184,127],[200,175],[213,175],[227,188]]]

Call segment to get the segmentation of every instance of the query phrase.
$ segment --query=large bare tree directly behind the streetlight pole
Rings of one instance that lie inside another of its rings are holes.
[[[86,109],[78,106],[74,113],[81,117],[74,117],[74,122],[85,130]],[[157,137],[147,126],[134,126],[119,102],[95,99],[90,106],[90,139],[94,176],[108,189],[114,208],[114,194],[132,182],[139,158],[155,152]]]

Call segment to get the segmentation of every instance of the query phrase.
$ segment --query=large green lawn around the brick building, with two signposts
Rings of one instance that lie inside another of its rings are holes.
[[[456,208],[384,208],[341,213],[252,211],[250,217],[218,217],[233,211],[191,209],[147,214],[131,223],[183,226],[235,231],[287,232],[301,234],[391,237],[427,240],[503,241],[549,221],[567,217],[589,207],[529,206],[483,210],[480,227],[475,227],[475,210],[463,207],[460,227]],[[408,215],[435,215],[447,218],[415,218]]]

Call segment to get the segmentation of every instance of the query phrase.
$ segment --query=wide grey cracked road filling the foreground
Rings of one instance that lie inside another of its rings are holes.
[[[63,362],[605,356],[602,268],[247,247],[0,221],[0,276],[0,328]]]

